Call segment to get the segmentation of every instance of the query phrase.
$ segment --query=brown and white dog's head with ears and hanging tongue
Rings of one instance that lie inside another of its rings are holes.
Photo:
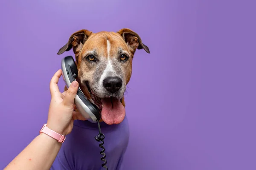
[[[123,28],[117,32],[77,31],[58,54],[71,48],[76,57],[77,81],[84,95],[100,108],[105,123],[121,123],[125,118],[124,93],[131,78],[134,53],[136,49],[150,53],[148,47],[137,33]]]

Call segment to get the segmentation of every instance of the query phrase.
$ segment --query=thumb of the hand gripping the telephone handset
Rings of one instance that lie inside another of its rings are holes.
[[[74,99],[76,96],[78,90],[78,82],[73,81],[70,85],[70,87],[67,89],[67,93],[64,96],[63,104],[67,106],[73,106],[74,105]]]

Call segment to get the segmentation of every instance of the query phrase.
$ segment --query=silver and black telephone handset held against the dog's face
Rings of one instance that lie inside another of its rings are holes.
[[[68,88],[71,83],[76,80],[78,75],[77,66],[72,56],[67,56],[62,59],[61,70],[62,77]],[[88,121],[97,123],[97,120],[101,118],[99,108],[84,96],[80,88],[77,91],[74,102],[76,104],[76,108]]]

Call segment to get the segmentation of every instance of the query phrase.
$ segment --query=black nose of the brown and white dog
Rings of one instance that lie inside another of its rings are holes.
[[[119,77],[107,77],[103,80],[103,86],[107,91],[115,93],[122,87],[122,79]]]

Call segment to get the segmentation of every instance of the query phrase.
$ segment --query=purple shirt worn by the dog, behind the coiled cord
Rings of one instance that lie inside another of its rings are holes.
[[[101,123],[105,135],[104,147],[109,170],[121,170],[122,160],[128,145],[129,128],[125,119],[118,125]],[[74,122],[72,132],[67,135],[61,150],[50,170],[104,170],[99,153],[102,148],[94,137],[99,133],[98,124],[89,121]]]

